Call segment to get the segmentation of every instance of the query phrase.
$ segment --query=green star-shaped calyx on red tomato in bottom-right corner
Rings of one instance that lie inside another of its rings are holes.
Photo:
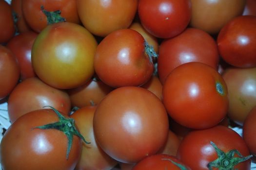
[[[234,166],[253,157],[253,155],[244,157],[237,150],[231,150],[227,153],[224,153],[219,148],[217,148],[216,144],[212,141],[211,141],[211,145],[214,147],[215,151],[217,152],[218,158],[207,165],[207,168],[209,170],[213,170],[213,167],[218,168],[218,170],[235,170]],[[239,157],[234,157],[235,153]]]

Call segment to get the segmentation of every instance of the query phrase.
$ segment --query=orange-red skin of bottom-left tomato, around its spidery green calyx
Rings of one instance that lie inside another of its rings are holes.
[[[5,132],[0,144],[0,161],[4,170],[74,170],[79,161],[82,141],[73,136],[66,159],[67,136],[56,129],[35,127],[54,123],[59,118],[51,109],[29,112]]]

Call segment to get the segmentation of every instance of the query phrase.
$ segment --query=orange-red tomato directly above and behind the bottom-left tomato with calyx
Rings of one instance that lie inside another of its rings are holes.
[[[66,92],[46,85],[37,77],[28,78],[18,84],[8,98],[9,119],[14,122],[20,116],[46,105],[66,115],[70,113],[71,102]]]

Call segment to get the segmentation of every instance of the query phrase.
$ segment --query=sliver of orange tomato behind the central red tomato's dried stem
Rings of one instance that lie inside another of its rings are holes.
[[[158,53],[159,44],[157,37],[153,36],[152,34],[149,34],[139,22],[133,22],[129,28],[141,34],[145,41],[147,41],[149,45],[153,46],[155,52]]]

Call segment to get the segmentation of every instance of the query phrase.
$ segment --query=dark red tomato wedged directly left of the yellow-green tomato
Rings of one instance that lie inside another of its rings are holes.
[[[18,60],[21,80],[36,76],[31,63],[31,50],[37,36],[37,33],[27,31],[12,37],[6,44]]]

